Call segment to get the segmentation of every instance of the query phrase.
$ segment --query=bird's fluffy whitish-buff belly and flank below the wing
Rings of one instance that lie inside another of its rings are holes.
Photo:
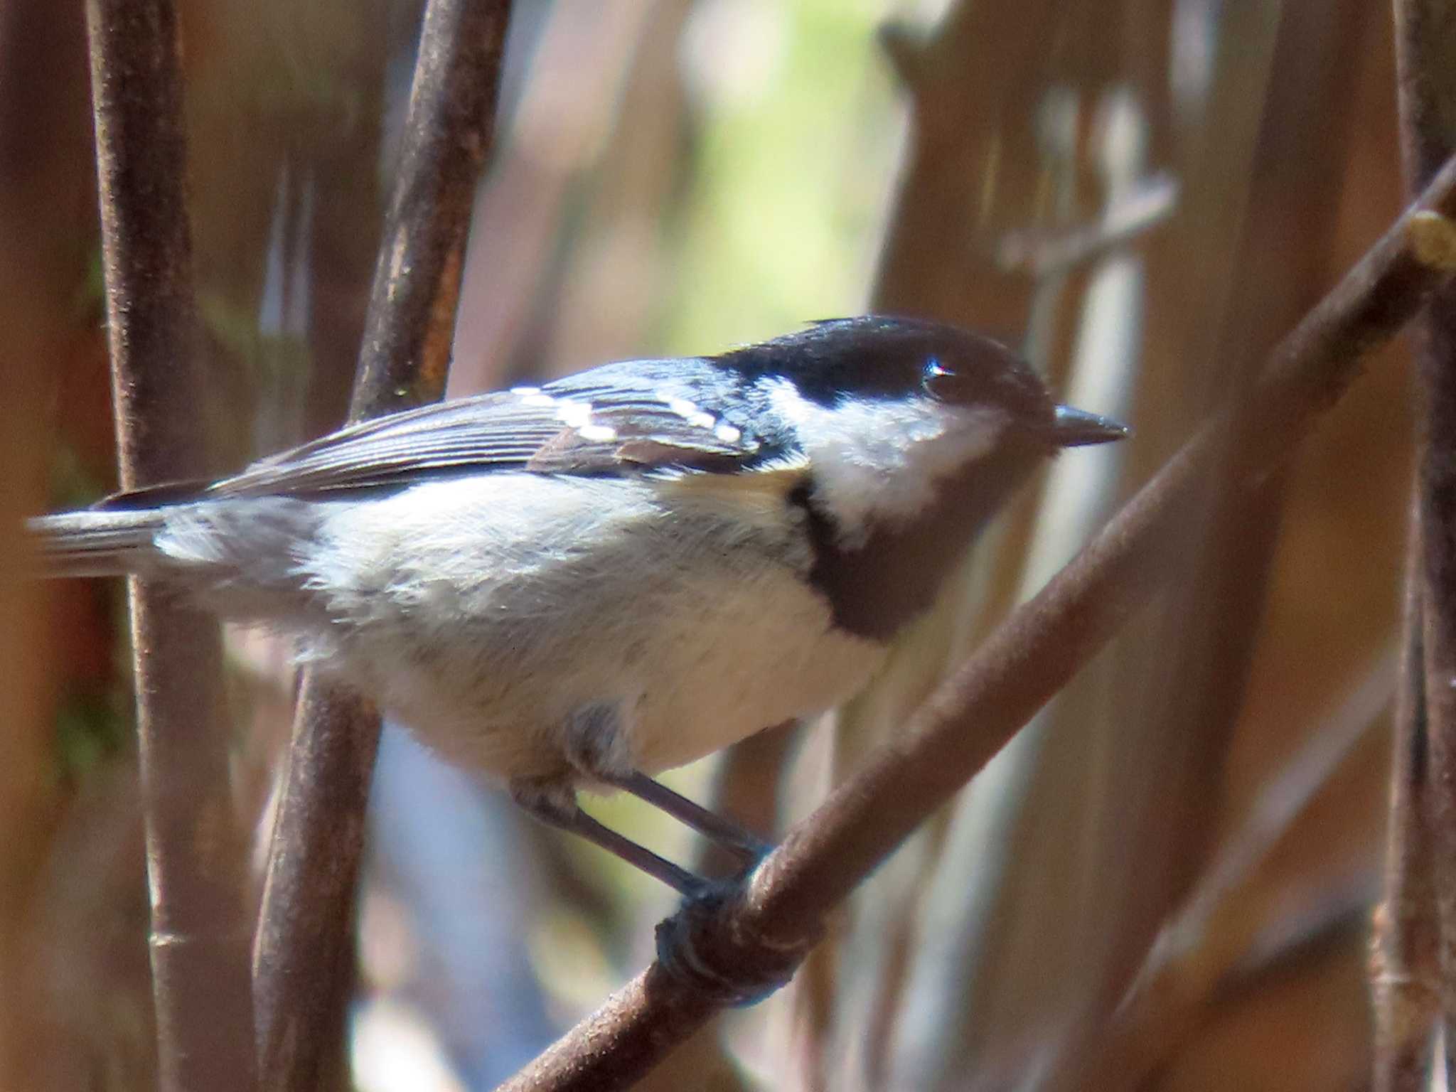
[[[341,507],[329,531],[309,561],[332,619],[317,657],[498,778],[568,775],[565,725],[588,706],[614,711],[623,764],[678,766],[830,708],[884,658],[831,625],[782,496],[725,511],[652,482],[496,473]]]

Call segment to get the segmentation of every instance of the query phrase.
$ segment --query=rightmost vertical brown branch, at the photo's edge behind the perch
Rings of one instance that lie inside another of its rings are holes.
[[[1406,189],[1417,192],[1456,147],[1456,6],[1396,0],[1396,67]],[[1420,556],[1433,882],[1440,922],[1446,1072],[1456,1061],[1456,290],[1437,291],[1420,328],[1425,395],[1420,453]],[[1398,756],[1399,759],[1399,756]],[[1399,770],[1396,776],[1399,776]]]

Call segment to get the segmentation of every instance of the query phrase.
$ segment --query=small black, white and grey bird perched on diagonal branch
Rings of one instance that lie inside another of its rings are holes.
[[[296,641],[447,760],[681,891],[591,820],[860,690],[1047,457],[1127,428],[1003,345],[860,316],[351,425],[214,483],[32,520],[48,575],[173,581]]]

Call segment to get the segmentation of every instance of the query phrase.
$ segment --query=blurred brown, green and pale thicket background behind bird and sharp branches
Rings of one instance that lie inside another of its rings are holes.
[[[217,470],[344,415],[416,0],[178,0]],[[451,393],[798,323],[929,314],[1130,421],[977,546],[869,690],[676,773],[763,831],[893,735],[1246,383],[1402,204],[1389,12],[1357,0],[515,0]],[[0,0],[0,1079],[147,1089],[119,582],[20,579],[115,483],[84,26]],[[1411,480],[1404,347],[1181,579],[662,1089],[1337,1089],[1370,1073]],[[294,676],[227,633],[256,831]],[[692,862],[626,801],[590,807]],[[488,1089],[652,954],[673,898],[387,729],[361,1089]],[[709,862],[712,863],[712,862]]]

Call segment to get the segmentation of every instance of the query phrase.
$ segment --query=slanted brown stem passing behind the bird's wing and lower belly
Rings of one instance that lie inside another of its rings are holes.
[[[425,10],[351,421],[444,393],[510,7],[430,0]],[[259,1073],[269,1089],[314,1089],[336,1076],[379,729],[365,702],[304,678],[253,954]]]

